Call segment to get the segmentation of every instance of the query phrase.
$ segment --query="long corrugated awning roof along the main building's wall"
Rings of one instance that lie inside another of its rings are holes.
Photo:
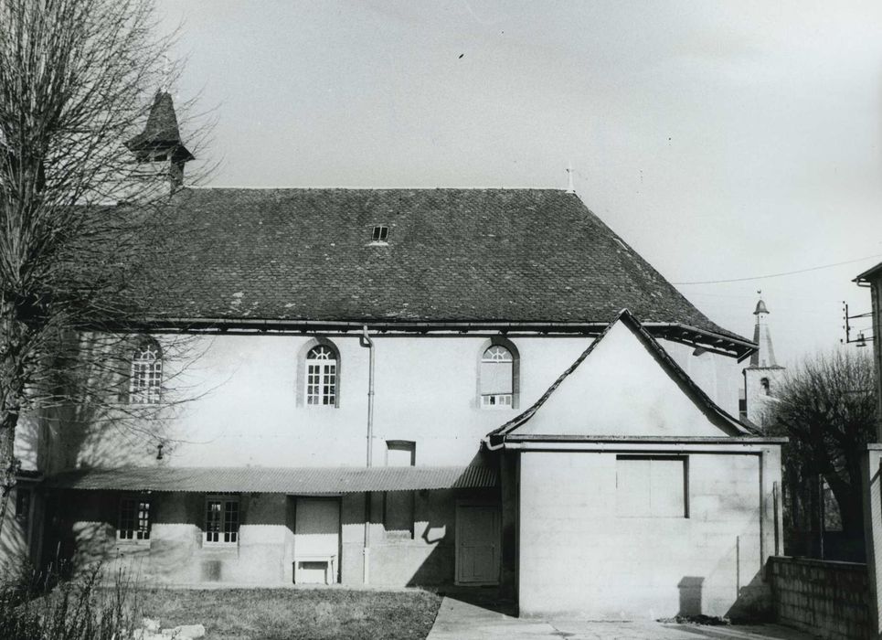
[[[47,478],[50,487],[118,491],[183,491],[274,494],[340,494],[363,491],[417,491],[496,486],[494,468],[467,466],[400,467],[119,467],[80,469]]]

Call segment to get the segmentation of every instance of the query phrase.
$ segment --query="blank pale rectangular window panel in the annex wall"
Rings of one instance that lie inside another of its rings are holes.
[[[688,517],[687,459],[616,456],[619,517]]]

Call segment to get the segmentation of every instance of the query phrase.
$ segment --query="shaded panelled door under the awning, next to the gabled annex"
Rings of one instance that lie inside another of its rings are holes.
[[[499,507],[456,506],[456,582],[498,584],[500,558]]]

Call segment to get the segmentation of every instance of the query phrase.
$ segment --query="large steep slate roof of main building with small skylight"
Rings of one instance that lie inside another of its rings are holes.
[[[186,188],[170,206],[186,240],[144,279],[155,318],[605,325],[628,307],[749,345],[560,190]]]

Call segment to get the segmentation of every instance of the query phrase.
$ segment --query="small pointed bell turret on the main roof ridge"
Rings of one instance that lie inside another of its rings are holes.
[[[184,186],[184,165],[193,160],[194,156],[181,141],[172,94],[165,91],[165,88],[156,91],[143,132],[125,145],[138,162],[166,163],[171,191]]]

